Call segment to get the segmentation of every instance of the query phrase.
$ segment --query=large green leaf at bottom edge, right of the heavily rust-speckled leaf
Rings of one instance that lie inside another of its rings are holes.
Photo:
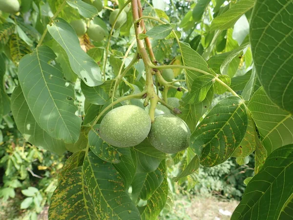
[[[125,192],[125,185],[111,163],[89,152],[84,159],[84,176],[95,204],[97,219],[140,220],[140,215]]]

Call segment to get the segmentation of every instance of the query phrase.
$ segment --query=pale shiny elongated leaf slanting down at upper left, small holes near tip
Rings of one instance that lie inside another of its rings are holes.
[[[81,48],[74,29],[65,20],[58,18],[47,25],[49,33],[66,51],[72,70],[87,86],[103,84],[100,67]]]

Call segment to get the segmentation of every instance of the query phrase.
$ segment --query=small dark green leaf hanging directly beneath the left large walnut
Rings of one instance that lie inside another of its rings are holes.
[[[127,190],[136,173],[137,156],[131,148],[118,148],[121,154],[121,162],[113,164],[124,181],[125,189]]]

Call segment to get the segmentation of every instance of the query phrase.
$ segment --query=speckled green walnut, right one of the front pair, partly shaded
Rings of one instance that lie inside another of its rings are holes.
[[[152,146],[167,154],[188,148],[191,133],[187,124],[173,114],[162,114],[155,118],[148,138]]]

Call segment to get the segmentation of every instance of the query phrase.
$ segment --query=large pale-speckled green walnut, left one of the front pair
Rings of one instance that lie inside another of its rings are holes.
[[[99,134],[115,147],[132,147],[146,139],[151,126],[148,113],[138,106],[126,105],[109,111],[100,124]]]

